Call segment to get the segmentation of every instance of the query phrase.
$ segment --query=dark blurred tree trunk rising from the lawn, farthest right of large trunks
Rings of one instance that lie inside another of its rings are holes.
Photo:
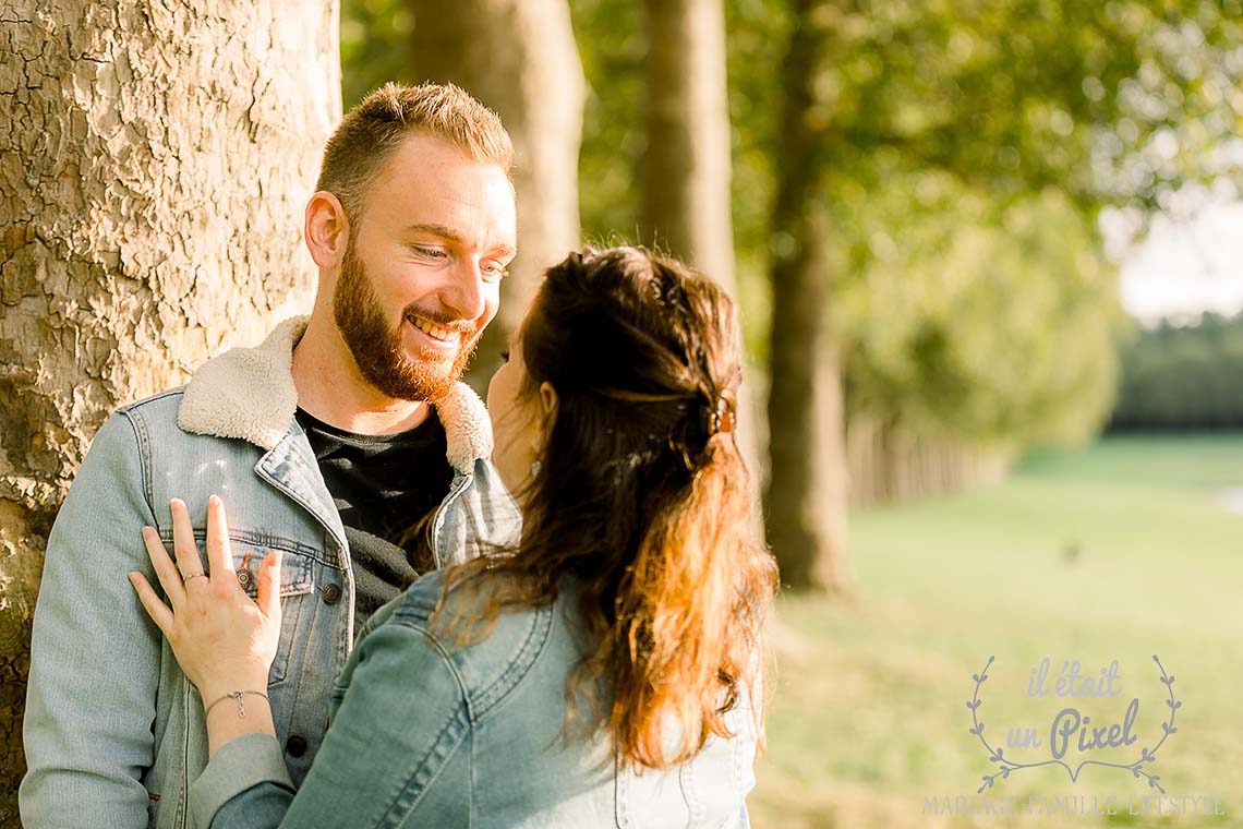
[[[782,67],[772,216],[773,318],[768,393],[768,541],[782,582],[849,593],[848,475],[842,372],[833,324],[828,108],[817,99],[829,4],[793,1]]]

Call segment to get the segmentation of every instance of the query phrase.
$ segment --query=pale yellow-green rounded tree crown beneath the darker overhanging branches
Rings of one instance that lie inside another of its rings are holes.
[[[1121,313],[1114,272],[1063,194],[997,215],[924,173],[875,191],[850,224],[868,247],[839,291],[853,409],[994,444],[1081,440],[1100,425]]]

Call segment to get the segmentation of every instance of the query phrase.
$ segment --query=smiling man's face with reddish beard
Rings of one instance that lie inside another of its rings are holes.
[[[333,292],[363,379],[390,398],[439,400],[461,378],[516,250],[505,170],[413,135],[367,193]]]

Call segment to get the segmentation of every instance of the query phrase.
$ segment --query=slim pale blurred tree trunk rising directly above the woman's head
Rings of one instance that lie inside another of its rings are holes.
[[[645,145],[639,159],[639,237],[709,275],[735,300],[730,215],[730,104],[722,0],[645,0]],[[761,408],[743,385],[738,437],[759,480]],[[761,531],[756,491],[756,531]]]

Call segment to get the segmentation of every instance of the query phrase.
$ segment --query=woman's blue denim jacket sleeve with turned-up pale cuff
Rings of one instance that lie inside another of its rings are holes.
[[[465,762],[470,728],[462,682],[423,630],[399,623],[377,628],[354,649],[342,684],[341,707],[297,794],[281,778],[275,740],[239,738],[191,784],[196,823],[213,829],[394,827],[416,812],[447,766]],[[469,793],[461,794],[469,809]],[[429,823],[438,824],[446,825]]]

